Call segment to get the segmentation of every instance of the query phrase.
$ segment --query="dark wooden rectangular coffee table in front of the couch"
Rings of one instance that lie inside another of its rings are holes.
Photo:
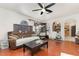
[[[23,52],[25,53],[26,48],[29,49],[31,51],[31,55],[33,56],[36,52],[40,51],[40,48],[43,46],[47,46],[48,48],[48,41],[47,40],[42,40],[41,43],[36,41],[40,41],[38,40],[33,40],[31,42],[25,43],[23,44]]]

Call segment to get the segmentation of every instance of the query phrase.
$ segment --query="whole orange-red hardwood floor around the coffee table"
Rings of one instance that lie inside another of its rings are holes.
[[[62,41],[58,42],[55,40],[48,41],[48,49],[42,49],[35,56],[60,56],[61,52],[71,54],[73,56],[79,56],[79,45],[69,42],[69,41]],[[26,50],[23,53],[23,48],[19,48],[16,50],[0,50],[0,56],[31,56],[31,52]]]

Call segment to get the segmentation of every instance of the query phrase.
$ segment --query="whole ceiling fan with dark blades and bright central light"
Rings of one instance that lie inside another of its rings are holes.
[[[40,15],[42,15],[44,12],[52,13],[53,11],[49,10],[48,8],[53,6],[53,5],[55,5],[55,3],[51,3],[51,4],[47,5],[47,6],[45,6],[45,5],[43,6],[41,3],[38,3],[38,5],[41,7],[41,9],[35,9],[35,10],[32,10],[32,11],[39,11],[39,10],[41,10]]]

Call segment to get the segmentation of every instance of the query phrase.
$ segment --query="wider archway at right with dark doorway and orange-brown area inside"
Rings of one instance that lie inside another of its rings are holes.
[[[70,40],[70,38],[76,35],[76,20],[68,19],[64,22],[64,37]]]

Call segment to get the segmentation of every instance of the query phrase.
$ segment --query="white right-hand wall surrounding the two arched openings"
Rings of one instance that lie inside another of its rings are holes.
[[[49,27],[49,36],[50,38],[53,39],[54,35],[53,35],[53,31],[52,31],[52,25],[53,25],[53,22],[57,20],[61,23],[61,36],[62,36],[62,40],[65,40],[64,39],[64,23],[65,21],[72,21],[72,20],[75,20],[76,21],[76,33],[79,31],[79,14],[73,14],[73,15],[66,15],[66,16],[62,16],[62,17],[58,17],[58,18],[55,18],[55,19],[51,19],[50,21],[47,21],[48,23],[48,26]],[[72,24],[70,22],[70,24]],[[70,39],[68,41],[75,41],[74,39]]]

